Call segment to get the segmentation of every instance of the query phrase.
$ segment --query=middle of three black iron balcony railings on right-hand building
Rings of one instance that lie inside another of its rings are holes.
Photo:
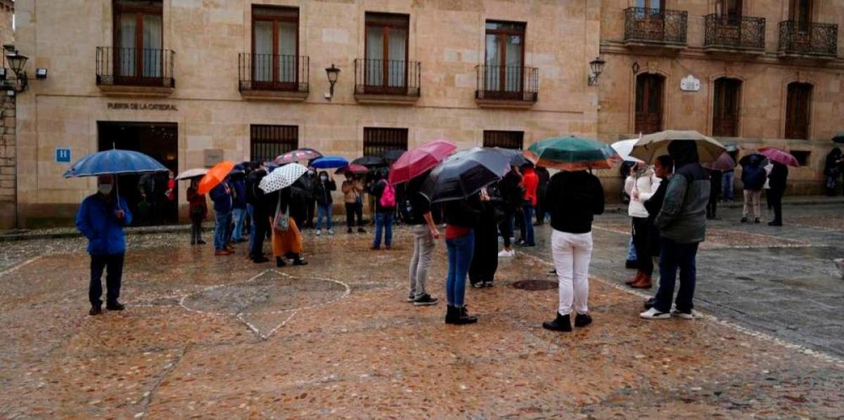
[[[706,15],[704,46],[737,50],[765,50],[765,18]]]

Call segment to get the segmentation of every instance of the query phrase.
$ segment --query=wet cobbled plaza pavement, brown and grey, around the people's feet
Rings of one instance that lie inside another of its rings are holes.
[[[89,316],[80,239],[0,243],[0,417],[840,417],[841,204],[785,208],[784,228],[711,223],[698,320],[641,320],[623,284],[628,219],[598,218],[590,309],[542,328],[549,228],[467,290],[473,326],[414,307],[408,231],[306,233],[306,267],[275,268],[184,233],[129,236],[122,301]],[[430,291],[444,297],[445,245]]]

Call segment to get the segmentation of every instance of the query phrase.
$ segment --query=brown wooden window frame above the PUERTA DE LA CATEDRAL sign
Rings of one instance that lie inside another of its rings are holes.
[[[135,13],[135,74],[125,76],[121,73],[120,18],[123,13]],[[112,30],[112,66],[116,84],[157,85],[164,78],[165,62],[160,60],[161,77],[149,78],[143,76],[143,15],[152,14],[161,17],[161,54],[164,54],[164,2],[163,0],[112,0],[111,2],[111,30]]]

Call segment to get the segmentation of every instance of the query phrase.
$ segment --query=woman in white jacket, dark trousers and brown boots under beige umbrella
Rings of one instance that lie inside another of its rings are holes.
[[[647,225],[647,209],[644,202],[647,202],[653,193],[659,188],[660,179],[654,174],[653,169],[644,163],[636,164],[630,169],[630,175],[625,180],[625,191],[630,195],[630,206],[627,214],[633,218],[633,245],[636,246],[636,255],[644,256],[638,258],[639,269],[636,276],[630,278],[626,283],[632,288],[651,288],[651,276],[653,274],[653,260],[647,258],[647,235],[650,228]]]

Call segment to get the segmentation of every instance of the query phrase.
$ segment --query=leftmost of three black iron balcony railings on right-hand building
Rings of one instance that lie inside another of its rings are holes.
[[[686,45],[688,12],[658,8],[625,9],[625,41]]]

